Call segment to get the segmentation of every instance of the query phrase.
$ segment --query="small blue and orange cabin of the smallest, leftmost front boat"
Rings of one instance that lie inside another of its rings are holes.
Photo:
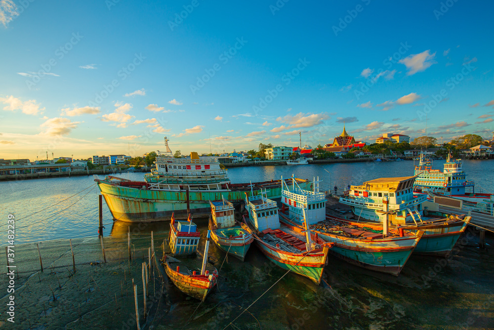
[[[173,215],[170,222],[169,246],[173,255],[191,255],[197,252],[199,236],[201,233],[192,222],[189,215],[188,221],[175,221]]]

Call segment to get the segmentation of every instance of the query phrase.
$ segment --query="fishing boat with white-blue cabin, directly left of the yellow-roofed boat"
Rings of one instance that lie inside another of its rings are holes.
[[[364,225],[350,225],[326,215],[326,194],[319,191],[319,178],[312,191],[301,189],[293,180],[282,188],[280,222],[296,232],[310,230],[334,245],[329,253],[351,264],[398,276],[423,235],[403,229],[386,233]]]

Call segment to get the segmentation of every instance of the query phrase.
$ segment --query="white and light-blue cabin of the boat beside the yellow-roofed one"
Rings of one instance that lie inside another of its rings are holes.
[[[281,202],[288,206],[290,220],[303,224],[303,210],[309,225],[326,220],[326,194],[319,192],[319,182],[319,178],[314,180],[314,189],[310,191],[301,189],[295,180],[292,180],[290,189],[282,177]]]

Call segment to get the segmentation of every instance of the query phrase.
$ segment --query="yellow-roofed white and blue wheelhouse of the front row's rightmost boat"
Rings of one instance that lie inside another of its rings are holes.
[[[425,195],[413,195],[413,177],[380,178],[366,181],[360,186],[351,186],[348,196],[340,197],[342,204],[349,205],[359,218],[383,222],[387,208],[391,224],[416,222],[422,216]]]

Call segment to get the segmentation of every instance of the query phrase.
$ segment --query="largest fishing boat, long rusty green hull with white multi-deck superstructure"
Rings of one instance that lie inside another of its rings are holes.
[[[169,221],[172,213],[186,219],[193,210],[195,216],[210,214],[209,200],[225,198],[242,202],[248,184],[232,184],[226,168],[217,158],[200,158],[191,152],[190,158],[174,158],[165,137],[165,152],[158,150],[155,168],[144,181],[132,181],[115,176],[95,179],[115,220],[127,222]],[[299,185],[308,181],[297,179]],[[306,187],[310,189],[310,187]],[[254,194],[264,189],[269,198],[281,196],[280,181],[254,183]]]

